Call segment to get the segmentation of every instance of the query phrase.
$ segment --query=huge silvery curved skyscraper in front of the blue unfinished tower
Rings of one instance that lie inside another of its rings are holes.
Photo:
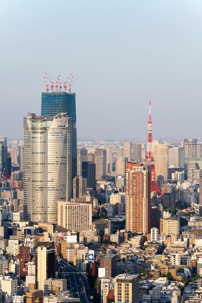
[[[24,118],[24,219],[57,223],[58,199],[71,198],[71,118]]]

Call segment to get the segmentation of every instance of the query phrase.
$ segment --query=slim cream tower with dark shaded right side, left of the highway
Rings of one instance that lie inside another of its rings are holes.
[[[37,288],[44,291],[45,280],[55,278],[55,248],[37,247]]]

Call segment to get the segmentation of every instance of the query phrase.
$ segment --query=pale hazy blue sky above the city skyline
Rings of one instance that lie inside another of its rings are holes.
[[[202,135],[201,0],[0,1],[0,135],[72,73],[78,138]]]

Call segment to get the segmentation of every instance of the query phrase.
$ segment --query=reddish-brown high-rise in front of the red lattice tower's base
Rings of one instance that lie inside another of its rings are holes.
[[[126,229],[149,233],[151,228],[150,167],[126,163]]]

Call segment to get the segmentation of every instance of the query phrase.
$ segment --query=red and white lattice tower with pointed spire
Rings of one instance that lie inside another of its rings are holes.
[[[149,100],[149,121],[147,124],[147,152],[146,152],[146,160],[144,164],[146,166],[149,166],[151,171],[151,197],[155,197],[156,194],[162,195],[162,191],[158,184],[155,174],[155,159],[154,159],[153,137],[152,137],[151,100]]]

